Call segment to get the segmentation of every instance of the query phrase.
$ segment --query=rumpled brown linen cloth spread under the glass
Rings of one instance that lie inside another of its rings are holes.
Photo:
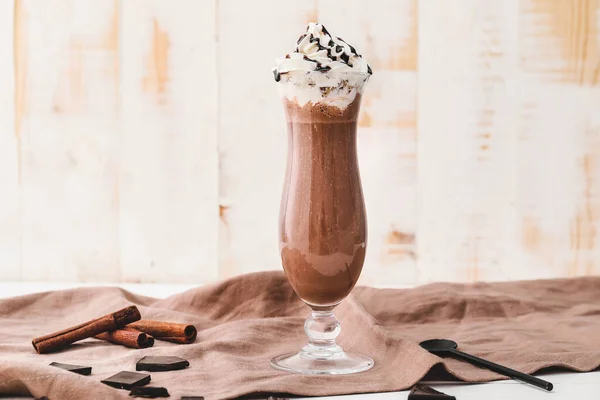
[[[146,319],[193,323],[191,345],[157,341],[129,349],[89,339],[38,355],[34,336],[50,333],[129,304]],[[177,355],[182,371],[152,372],[153,386],[171,398],[208,400],[247,393],[335,395],[407,389],[434,365],[470,382],[503,379],[469,364],[438,358],[418,346],[450,338],[466,352],[532,373],[549,366],[589,371],[600,365],[600,277],[510,283],[430,284],[415,289],[358,287],[337,307],[339,343],[367,354],[375,367],[359,375],[301,376],[275,371],[269,360],[305,342],[309,309],[283,273],[263,272],[157,300],[117,288],[84,288],[0,301],[0,394],[50,399],[118,399],[127,391],[100,383],[135,371],[146,355]],[[80,376],[48,366],[57,361],[93,367]]]

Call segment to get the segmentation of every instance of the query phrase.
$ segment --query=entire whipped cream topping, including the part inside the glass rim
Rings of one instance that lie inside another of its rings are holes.
[[[282,95],[300,107],[322,103],[343,110],[373,74],[352,45],[314,22],[308,24],[294,52],[275,63],[273,75],[281,82]]]

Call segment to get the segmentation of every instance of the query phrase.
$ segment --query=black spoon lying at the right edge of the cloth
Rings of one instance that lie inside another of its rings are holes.
[[[490,371],[494,371],[499,374],[508,376],[510,378],[518,379],[520,381],[527,382],[539,388],[546,389],[547,391],[551,391],[554,387],[554,385],[552,385],[550,382],[545,381],[543,379],[536,378],[535,376],[524,374],[523,372],[519,372],[514,369],[504,367],[500,364],[484,360],[483,358],[475,357],[470,354],[463,353],[460,350],[456,350],[458,344],[456,344],[456,342],[453,342],[452,340],[431,339],[421,342],[419,343],[419,345],[428,352],[433,353],[437,356],[450,355],[452,357],[461,359],[478,367],[487,368]]]

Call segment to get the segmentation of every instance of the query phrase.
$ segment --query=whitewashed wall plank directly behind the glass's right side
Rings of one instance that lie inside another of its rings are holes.
[[[353,43],[374,71],[359,121],[358,154],[369,225],[360,283],[414,282],[417,2],[352,0],[344,4],[319,1],[319,19],[331,32]]]

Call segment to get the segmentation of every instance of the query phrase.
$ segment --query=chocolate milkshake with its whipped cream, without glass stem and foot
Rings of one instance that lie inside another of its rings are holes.
[[[365,259],[356,126],[371,70],[354,47],[309,24],[274,73],[288,125],[279,220],[283,268],[302,300],[327,308],[348,296]]]

